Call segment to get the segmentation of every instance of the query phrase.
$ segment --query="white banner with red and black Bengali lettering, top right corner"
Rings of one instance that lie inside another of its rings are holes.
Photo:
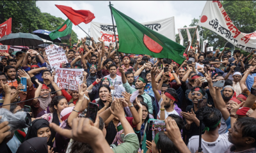
[[[220,1],[206,2],[198,25],[220,34],[237,48],[246,52],[255,50],[256,31],[250,34],[241,33],[228,17]]]

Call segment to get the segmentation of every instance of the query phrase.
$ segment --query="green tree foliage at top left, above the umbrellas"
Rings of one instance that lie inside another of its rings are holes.
[[[12,33],[32,33],[37,29],[53,31],[65,20],[49,13],[42,13],[36,1],[0,1],[0,23],[12,18]],[[77,34],[72,31],[72,44],[77,43]],[[62,40],[68,43],[68,40]]]

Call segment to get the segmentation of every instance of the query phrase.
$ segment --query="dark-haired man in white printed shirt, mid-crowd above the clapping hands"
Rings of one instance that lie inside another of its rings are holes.
[[[107,75],[104,78],[108,78],[109,79],[109,87],[110,87],[110,89],[116,91],[118,85],[122,84],[122,78],[119,77],[118,75],[116,75],[116,65],[110,64],[108,66],[108,71],[109,71],[110,75]],[[115,95],[115,93],[113,93],[112,95]]]

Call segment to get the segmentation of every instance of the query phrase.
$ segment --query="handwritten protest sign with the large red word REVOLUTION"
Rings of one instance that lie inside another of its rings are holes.
[[[77,84],[83,83],[84,69],[56,68],[55,71],[56,75],[54,77],[54,82],[60,89],[65,88],[78,91]]]

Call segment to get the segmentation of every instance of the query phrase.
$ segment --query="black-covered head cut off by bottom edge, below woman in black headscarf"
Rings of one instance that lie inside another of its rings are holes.
[[[47,138],[35,137],[26,140],[17,150],[17,153],[48,153]]]

